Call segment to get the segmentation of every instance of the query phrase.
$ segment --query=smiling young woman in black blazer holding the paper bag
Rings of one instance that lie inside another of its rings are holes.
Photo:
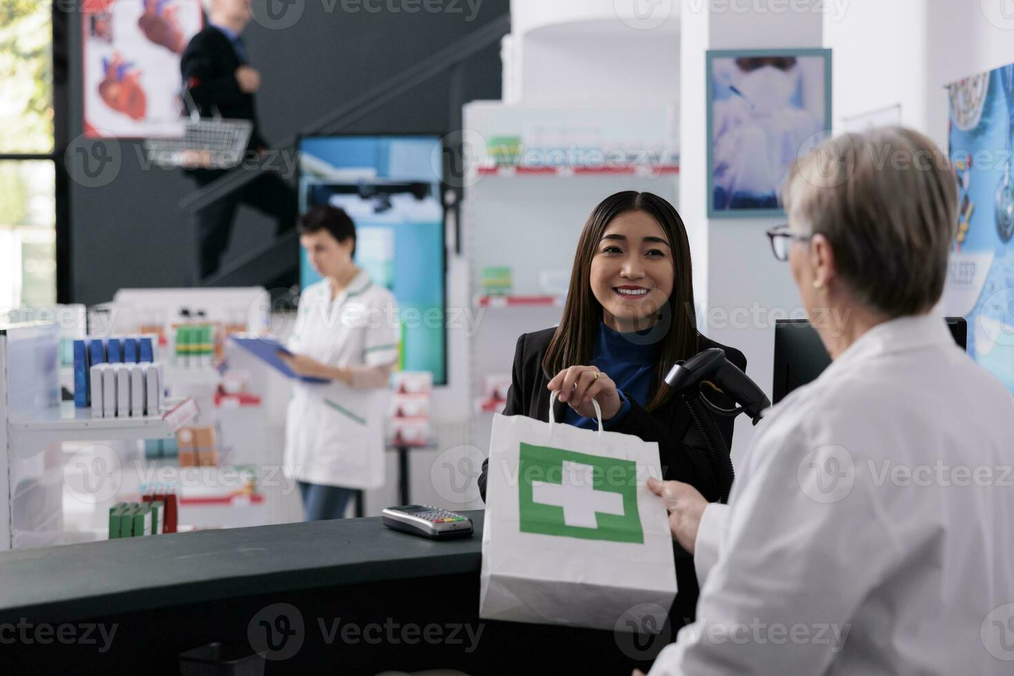
[[[664,380],[676,361],[709,348],[722,348],[746,370],[742,353],[697,330],[690,240],[679,214],[650,193],[618,193],[595,207],[581,232],[560,325],[518,339],[504,414],[548,422],[556,391],[556,420],[596,429],[594,398],[605,429],[658,444],[664,478],[716,501],[707,446],[682,397]],[[709,398],[734,407],[723,395]],[[732,419],[716,423],[731,448]],[[484,500],[486,474],[483,463]],[[676,580],[671,617],[681,625],[697,602],[692,559],[677,559]]]

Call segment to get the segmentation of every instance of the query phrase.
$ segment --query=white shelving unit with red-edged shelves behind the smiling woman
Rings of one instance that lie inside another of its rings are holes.
[[[466,134],[488,144],[475,149],[461,209],[473,310],[483,313],[468,350],[470,398],[477,410],[486,376],[510,374],[518,336],[559,323],[565,297],[559,288],[544,287],[541,279],[544,274],[558,280],[569,276],[578,237],[595,205],[629,190],[677,203],[675,110],[674,101],[638,106],[499,101],[465,105]],[[651,152],[651,161],[626,167],[512,165],[505,163],[501,144],[509,148],[506,155],[515,158],[554,156],[554,148],[577,147],[582,151],[573,156],[579,160],[595,157],[596,150],[620,151],[636,160],[638,151],[645,150]],[[483,295],[487,267],[511,268],[510,295]],[[469,444],[483,452],[488,450],[492,419],[489,411],[472,417]]]

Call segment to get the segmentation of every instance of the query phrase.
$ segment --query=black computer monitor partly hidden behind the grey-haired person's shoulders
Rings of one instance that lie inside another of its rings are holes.
[[[964,350],[968,324],[963,317],[945,317],[954,342]],[[779,319],[775,322],[775,379],[772,401],[778,403],[789,392],[816,380],[830,364],[830,356],[816,330],[806,319]]]

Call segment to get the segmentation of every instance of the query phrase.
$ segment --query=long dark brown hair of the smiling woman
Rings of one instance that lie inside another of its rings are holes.
[[[553,378],[566,368],[587,365],[591,360],[598,324],[602,319],[602,305],[591,291],[591,260],[598,252],[599,242],[612,219],[631,211],[650,214],[662,226],[669,241],[674,266],[669,301],[666,306],[659,308],[655,326],[646,336],[647,340],[662,344],[654,378],[655,389],[645,406],[648,410],[654,410],[672,395],[672,390],[665,384],[665,375],[672,364],[689,359],[698,352],[691,245],[686,227],[672,205],[657,195],[634,191],[617,193],[603,200],[591,212],[578,240],[563,318],[546,351],[542,371],[548,378]]]

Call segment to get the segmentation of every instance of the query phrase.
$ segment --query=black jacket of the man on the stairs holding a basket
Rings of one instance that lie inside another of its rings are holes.
[[[187,45],[179,71],[201,117],[210,118],[217,108],[223,118],[249,120],[254,123],[249,147],[267,148],[261,137],[254,94],[240,90],[236,82],[236,69],[243,65],[225,33],[209,25]],[[201,172],[210,173],[207,169],[194,171]]]

